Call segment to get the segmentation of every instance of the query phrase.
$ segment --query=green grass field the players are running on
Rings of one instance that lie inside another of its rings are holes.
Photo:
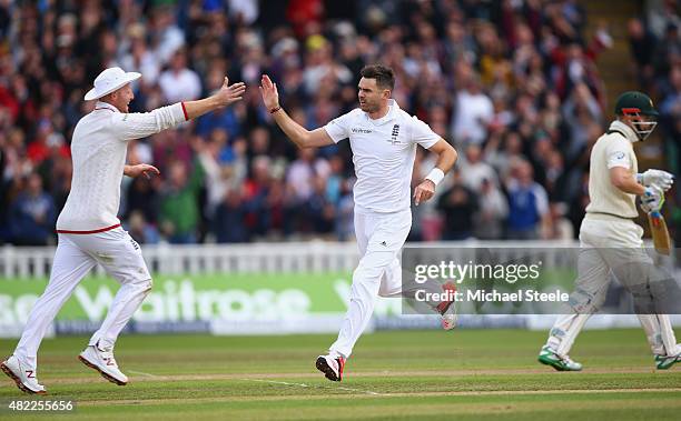
[[[77,361],[86,338],[46,340],[40,381],[75,413],[36,420],[678,420],[681,367],[655,371],[641,330],[586,331],[581,373],[540,365],[545,332],[367,334],[342,383],[314,368],[332,335],[122,337],[117,387]],[[1,340],[0,355],[16,341]],[[680,364],[681,365],[681,364]],[[0,401],[26,395],[0,373]],[[19,419],[7,410],[0,419]]]

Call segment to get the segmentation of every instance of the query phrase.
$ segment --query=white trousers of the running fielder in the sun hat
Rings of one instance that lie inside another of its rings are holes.
[[[99,233],[59,234],[50,281],[29,314],[14,355],[37,365],[40,342],[82,278],[100,263],[121,284],[89,344],[114,347],[118,334],[151,290],[151,275],[139,244],[120,227]]]

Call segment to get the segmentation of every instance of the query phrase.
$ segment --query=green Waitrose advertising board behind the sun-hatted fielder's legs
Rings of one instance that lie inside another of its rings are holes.
[[[349,301],[351,273],[158,275],[128,331],[216,334],[336,332]],[[0,337],[17,337],[47,279],[0,279]],[[88,278],[59,312],[53,332],[88,333],[119,285]],[[379,298],[375,314],[395,319],[401,300]],[[371,329],[372,327],[369,327]]]

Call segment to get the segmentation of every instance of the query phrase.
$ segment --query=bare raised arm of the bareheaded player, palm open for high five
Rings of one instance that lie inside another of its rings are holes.
[[[272,82],[267,74],[263,74],[263,79],[260,80],[260,93],[263,94],[263,102],[265,107],[267,107],[267,111],[272,113],[277,126],[284,131],[288,139],[298,146],[298,148],[315,148],[334,144],[334,141],[326,130],[323,128],[312,131],[307,130],[295,122],[286,111],[284,111],[279,106],[277,86]]]

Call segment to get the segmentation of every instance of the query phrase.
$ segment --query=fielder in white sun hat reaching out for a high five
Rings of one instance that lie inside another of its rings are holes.
[[[128,141],[227,107],[241,99],[244,83],[223,87],[203,100],[176,103],[146,113],[128,113],[134,99],[130,82],[140,73],[120,68],[103,70],[86,100],[98,99],[93,111],[76,124],[71,141],[73,174],[71,191],[57,221],[59,242],[50,281],[33,305],[12,357],[0,364],[19,389],[45,393],[37,380],[37,353],[59,309],[82,278],[101,264],[121,288],[101,327],[90,339],[80,360],[116,384],[126,384],[114,359],[118,334],[151,290],[151,275],[139,244],[120,228],[116,217],[124,173],[138,177],[158,173],[148,164],[126,166]]]

